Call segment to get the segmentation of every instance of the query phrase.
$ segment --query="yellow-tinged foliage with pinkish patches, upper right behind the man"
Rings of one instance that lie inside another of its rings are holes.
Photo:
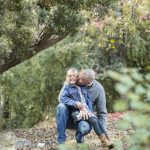
[[[97,79],[106,90],[109,111],[113,111],[112,104],[118,94],[112,86],[115,81],[107,76],[107,71],[118,71],[124,66],[138,67],[144,72],[150,64],[147,4],[147,0],[118,2],[103,18],[99,12],[83,12],[89,20],[76,38],[88,45],[86,65],[98,73]]]

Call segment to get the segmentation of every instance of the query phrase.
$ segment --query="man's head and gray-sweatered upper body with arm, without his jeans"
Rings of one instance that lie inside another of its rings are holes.
[[[82,70],[79,74],[78,82],[80,85],[87,86],[93,106],[96,106],[97,117],[106,130],[107,108],[105,90],[103,86],[95,80],[95,72],[92,69]]]

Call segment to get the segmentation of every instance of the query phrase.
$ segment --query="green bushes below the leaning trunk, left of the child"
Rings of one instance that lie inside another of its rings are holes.
[[[52,115],[65,69],[78,64],[85,47],[66,41],[68,45],[60,43],[1,76],[2,127],[29,127],[43,119],[44,113]]]

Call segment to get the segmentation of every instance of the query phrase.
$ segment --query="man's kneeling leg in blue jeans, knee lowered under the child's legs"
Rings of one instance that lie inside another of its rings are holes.
[[[76,131],[76,141],[77,143],[84,142],[84,136],[90,133],[92,126],[84,120],[81,120],[77,124],[77,131]]]

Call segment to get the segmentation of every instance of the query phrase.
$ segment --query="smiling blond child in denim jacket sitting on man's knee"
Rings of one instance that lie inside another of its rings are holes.
[[[78,71],[75,68],[70,68],[66,74],[65,86],[61,93],[61,102],[68,105],[72,112],[74,121],[81,121],[81,112],[86,112],[86,120],[92,125],[95,133],[98,135],[104,147],[113,148],[113,144],[99,122],[98,118],[93,114],[92,101],[88,95],[87,89],[84,86],[76,85]]]

